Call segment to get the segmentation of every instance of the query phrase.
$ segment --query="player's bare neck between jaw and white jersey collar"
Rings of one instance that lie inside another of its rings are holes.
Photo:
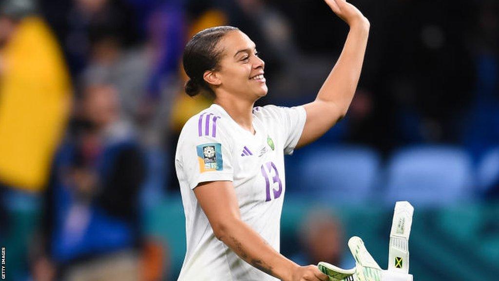
[[[253,104],[254,101],[249,101],[241,98],[236,98],[232,95],[225,95],[223,98],[217,96],[213,103],[222,106],[236,123],[244,129],[255,133],[253,128]]]

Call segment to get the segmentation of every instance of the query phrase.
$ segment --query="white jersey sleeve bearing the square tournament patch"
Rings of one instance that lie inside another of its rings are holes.
[[[220,129],[215,136],[188,130],[179,139],[179,145],[178,158],[191,189],[200,182],[233,180],[232,144]]]

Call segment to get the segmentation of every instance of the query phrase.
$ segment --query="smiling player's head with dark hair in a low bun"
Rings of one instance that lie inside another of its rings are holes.
[[[268,90],[263,76],[264,65],[255,43],[237,27],[208,28],[186,45],[184,69],[191,78],[185,89],[191,96],[202,90],[212,95],[215,91],[219,94],[223,91],[254,100]]]

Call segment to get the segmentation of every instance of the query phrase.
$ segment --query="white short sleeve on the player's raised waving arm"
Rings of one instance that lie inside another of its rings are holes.
[[[305,126],[305,108],[302,105],[293,107],[266,105],[264,107],[277,113],[277,121],[284,134],[284,154],[292,154]]]

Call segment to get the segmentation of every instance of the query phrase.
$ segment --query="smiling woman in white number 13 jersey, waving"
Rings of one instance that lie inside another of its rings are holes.
[[[253,107],[267,94],[265,63],[238,28],[208,28],[187,43],[186,93],[215,99],[187,121],[177,144],[187,231],[179,280],[329,280],[279,253],[284,154],[346,114],[367,44],[362,13],[345,0],[325,1],[350,32],[316,99],[301,106]]]

